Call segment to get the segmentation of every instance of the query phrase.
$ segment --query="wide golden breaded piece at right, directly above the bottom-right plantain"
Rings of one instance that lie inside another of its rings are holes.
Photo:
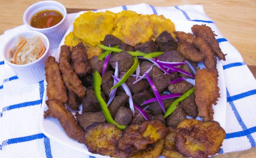
[[[220,97],[217,69],[197,68],[195,75],[195,101],[198,116],[204,121],[213,120],[212,104]]]

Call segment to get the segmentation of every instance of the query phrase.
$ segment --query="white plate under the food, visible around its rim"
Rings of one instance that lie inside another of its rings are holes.
[[[84,12],[77,13],[76,17],[78,17],[82,13],[84,13]],[[178,30],[178,29],[176,28],[176,30]],[[62,41],[60,43],[60,46],[64,45],[65,37],[71,31],[73,31],[73,23],[68,28],[64,38],[62,39]],[[57,52],[54,54],[57,61],[59,61],[60,46],[59,46]],[[223,68],[222,68],[222,64],[220,61],[217,62],[217,69],[218,69],[218,74],[219,74],[218,86],[220,88],[220,98],[217,102],[217,105],[213,106],[213,110],[214,110],[213,117],[214,117],[214,120],[218,121],[220,126],[225,129],[227,96],[226,96],[226,85],[225,85],[225,80],[224,80],[224,75],[223,75]],[[77,151],[86,153],[88,155],[92,155],[95,157],[109,157],[109,156],[102,156],[99,154],[92,154],[88,151],[87,147],[84,144],[78,143],[74,139],[69,138],[67,136],[67,134],[65,133],[65,131],[63,130],[63,128],[61,127],[61,125],[59,124],[59,121],[57,119],[54,119],[51,117],[47,117],[46,119],[44,119],[44,116],[43,116],[44,111],[46,111],[48,109],[45,104],[45,100],[47,100],[46,89],[45,89],[44,97],[43,97],[40,123],[41,123],[41,129],[47,137],[55,139],[55,140],[59,141],[61,144],[64,144],[70,148],[73,148]],[[200,118],[198,118],[198,119],[200,119]]]

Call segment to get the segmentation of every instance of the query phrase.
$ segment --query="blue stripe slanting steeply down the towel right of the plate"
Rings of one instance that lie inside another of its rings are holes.
[[[227,89],[227,102],[229,102],[229,104],[230,104],[230,106],[231,106],[231,109],[233,110],[233,112],[234,112],[234,114],[235,114],[235,117],[236,117],[236,119],[237,119],[239,125],[242,127],[243,131],[246,131],[246,130],[247,130],[247,127],[245,126],[243,119],[242,119],[241,116],[239,115],[239,112],[237,111],[234,102],[233,102],[233,101],[230,101],[230,100],[228,99],[228,98],[230,98],[230,97],[231,97],[231,96],[230,96],[230,94],[229,94],[229,92],[228,92],[228,89]],[[229,101],[228,101],[228,100],[229,100]],[[251,146],[252,146],[252,147],[255,146],[255,141],[254,141],[252,135],[251,135],[251,134],[247,134],[246,137],[249,139],[249,142],[251,143]]]

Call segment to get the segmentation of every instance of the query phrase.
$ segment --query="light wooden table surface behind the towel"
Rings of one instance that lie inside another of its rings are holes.
[[[256,1],[203,1],[203,0],[57,0],[66,6],[68,13],[83,10],[110,8],[121,5],[148,3],[153,6],[173,6],[185,4],[203,5],[206,15],[217,24],[223,37],[242,55],[245,63],[256,77]],[[22,15],[36,0],[0,0],[0,35],[5,30],[23,24]],[[252,149],[254,150],[254,149]],[[251,150],[251,151],[252,151]],[[256,152],[255,152],[256,153]]]

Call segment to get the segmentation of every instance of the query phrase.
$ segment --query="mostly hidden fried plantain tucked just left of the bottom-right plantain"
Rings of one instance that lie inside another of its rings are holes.
[[[166,158],[169,158],[169,157],[183,158],[184,156],[178,152],[177,147],[175,146],[175,141],[174,141],[175,128],[167,127],[167,130],[168,132],[164,137],[164,148],[161,155],[163,155]]]

